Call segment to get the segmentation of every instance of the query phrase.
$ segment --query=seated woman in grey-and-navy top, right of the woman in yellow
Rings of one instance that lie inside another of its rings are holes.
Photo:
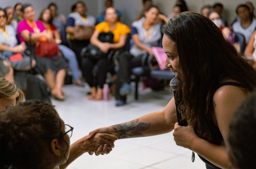
[[[161,24],[155,23],[159,10],[150,6],[145,12],[145,17],[132,23],[131,37],[134,41],[129,52],[124,52],[119,58],[119,71],[117,72],[116,105],[126,103],[126,95],[131,92],[129,85],[131,69],[142,66],[142,56],[152,55],[152,48],[158,46],[162,38]]]

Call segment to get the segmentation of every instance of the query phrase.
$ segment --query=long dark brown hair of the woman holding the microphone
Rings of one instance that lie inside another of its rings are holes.
[[[256,72],[210,19],[195,12],[182,12],[162,27],[176,42],[182,74],[179,93],[184,117],[201,138],[211,140],[213,95],[220,81],[231,78],[246,91],[256,86]]]

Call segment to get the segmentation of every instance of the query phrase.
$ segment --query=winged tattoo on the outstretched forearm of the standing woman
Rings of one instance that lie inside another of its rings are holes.
[[[150,128],[151,123],[138,122],[138,119],[131,122],[116,124],[112,126],[120,138],[144,137],[143,131]]]

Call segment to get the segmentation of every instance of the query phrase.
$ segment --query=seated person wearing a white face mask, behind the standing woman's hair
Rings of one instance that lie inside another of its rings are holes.
[[[219,28],[221,29],[225,38],[229,40],[231,44],[235,43],[233,32],[228,27],[222,27],[222,20],[220,14],[215,10],[210,10],[207,17]]]

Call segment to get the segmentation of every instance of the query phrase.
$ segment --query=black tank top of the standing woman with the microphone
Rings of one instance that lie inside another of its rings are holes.
[[[224,82],[221,85],[219,85],[219,87],[217,89],[219,89],[220,87],[226,86],[226,85],[231,85],[231,86],[238,86],[238,87],[243,87],[243,85],[241,85],[241,83],[237,83],[237,82]],[[221,135],[221,131],[219,130],[219,128],[217,126],[215,126],[215,124],[212,122],[210,123],[210,132],[212,133],[212,143],[213,144],[217,144],[217,145],[223,145],[224,144],[224,140],[223,140],[223,136]],[[209,161],[207,161],[206,159],[204,159],[202,156],[198,155],[200,157],[200,159],[202,161],[204,161],[205,165],[206,165],[206,169],[221,169],[219,167],[217,167],[216,165],[213,165],[212,163],[210,163]]]

